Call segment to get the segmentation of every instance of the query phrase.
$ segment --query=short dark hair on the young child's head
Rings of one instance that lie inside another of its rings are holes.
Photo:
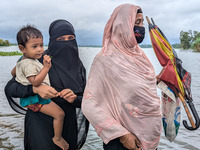
[[[32,38],[43,38],[40,30],[36,29],[33,25],[23,26],[17,33],[17,43],[25,47],[28,40]]]

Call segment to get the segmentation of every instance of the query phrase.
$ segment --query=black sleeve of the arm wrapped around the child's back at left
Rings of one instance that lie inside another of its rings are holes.
[[[24,86],[18,83],[15,78],[12,78],[5,87],[5,93],[8,97],[14,98],[24,98],[28,96],[33,96],[35,93],[33,92],[32,85]]]

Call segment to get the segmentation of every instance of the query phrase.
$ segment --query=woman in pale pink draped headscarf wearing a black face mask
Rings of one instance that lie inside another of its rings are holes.
[[[139,47],[144,38],[140,7],[118,6],[108,20],[95,57],[82,110],[105,150],[155,150],[161,134],[154,68]]]

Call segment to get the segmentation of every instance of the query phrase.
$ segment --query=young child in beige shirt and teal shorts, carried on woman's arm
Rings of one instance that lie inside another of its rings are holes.
[[[51,58],[44,55],[43,65],[37,60],[44,53],[42,33],[38,29],[27,25],[17,33],[17,42],[23,56],[18,60],[16,67],[11,72],[13,76],[16,74],[16,81],[23,85],[50,85],[48,71],[51,68]],[[50,99],[43,99],[39,95],[35,95],[21,98],[20,105],[34,112],[39,111],[53,117],[53,142],[63,150],[69,148],[68,143],[62,138],[65,114],[56,103]]]

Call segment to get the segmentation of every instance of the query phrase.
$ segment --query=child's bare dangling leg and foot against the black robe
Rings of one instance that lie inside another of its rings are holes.
[[[43,105],[40,112],[54,118],[54,137],[52,140],[60,148],[67,150],[69,148],[69,144],[62,138],[63,120],[65,116],[64,111],[56,103],[51,101],[49,104]]]

